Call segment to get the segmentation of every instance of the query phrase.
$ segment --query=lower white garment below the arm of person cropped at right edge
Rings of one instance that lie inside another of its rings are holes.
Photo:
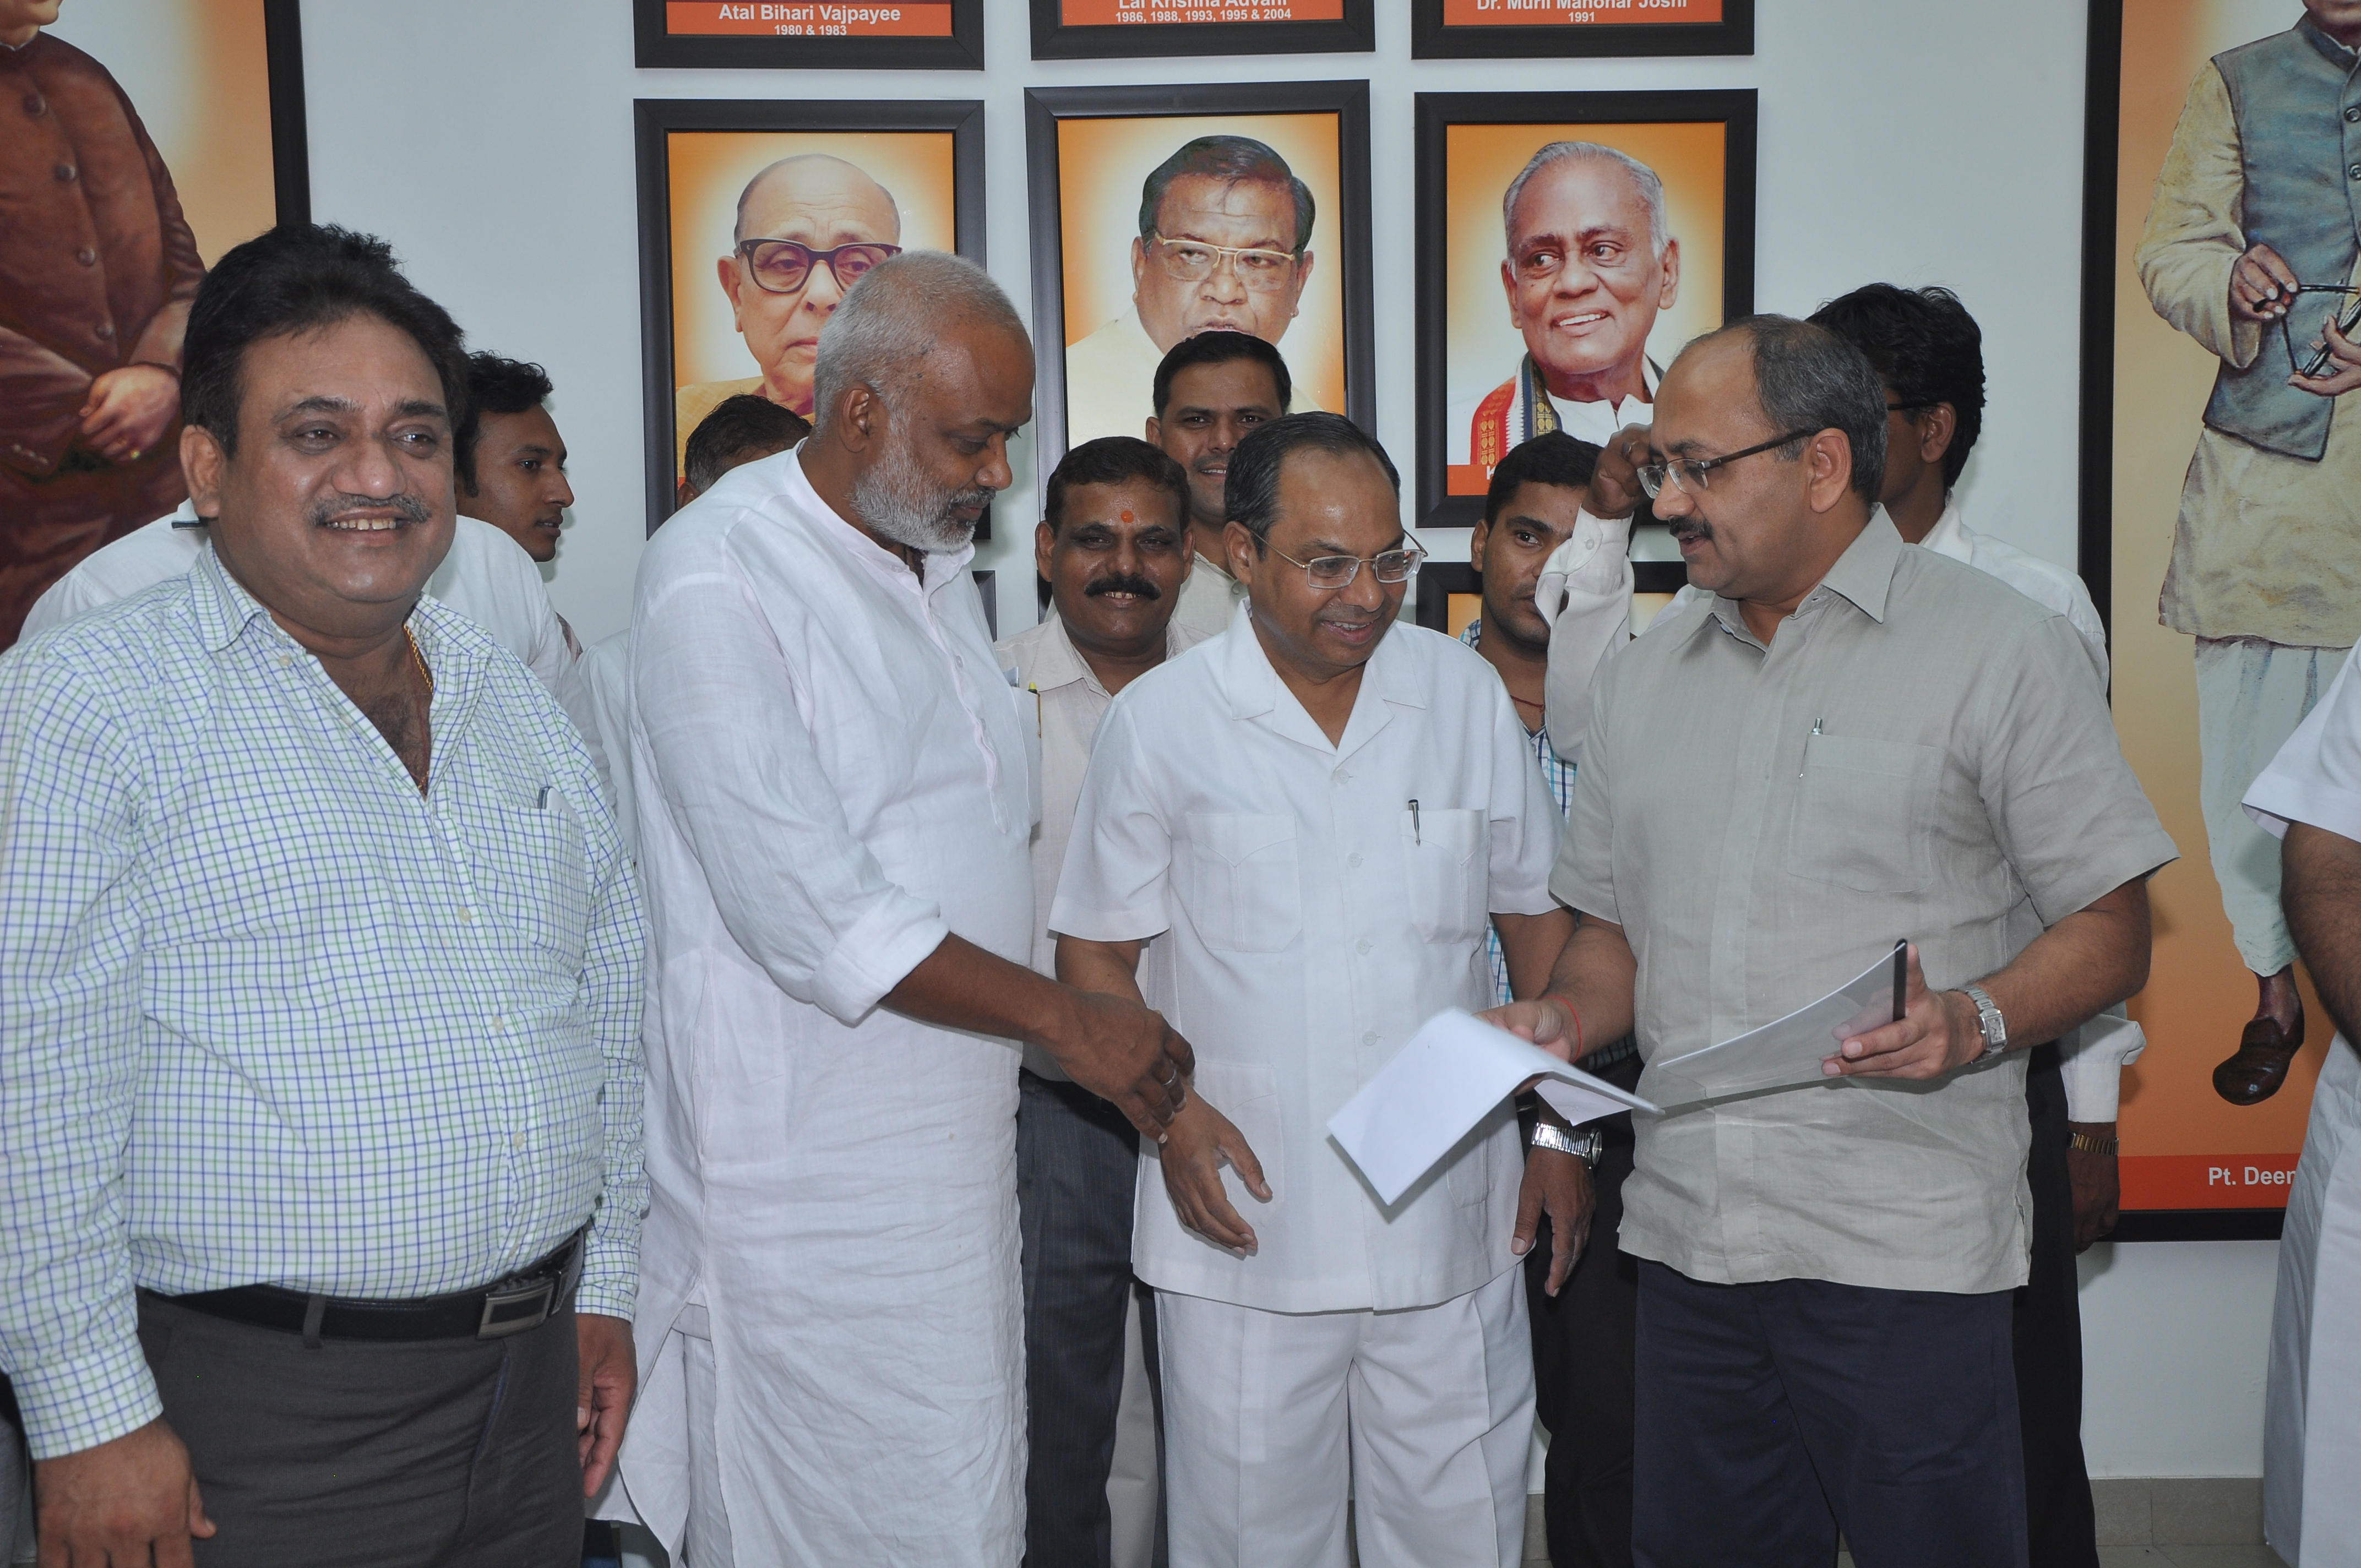
[[[2300,1568],[2361,1563],[2361,1056],[2335,1037],[2288,1193],[2262,1400],[2262,1535]]]

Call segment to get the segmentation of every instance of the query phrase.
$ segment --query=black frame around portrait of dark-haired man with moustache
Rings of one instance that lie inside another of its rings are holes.
[[[1336,241],[1343,276],[1343,416],[1376,432],[1376,326],[1369,276],[1369,83],[1221,83],[1162,87],[1027,87],[1025,177],[1034,283],[1034,453],[1039,482],[1065,456],[1065,239],[1058,125],[1162,116],[1334,113]]]

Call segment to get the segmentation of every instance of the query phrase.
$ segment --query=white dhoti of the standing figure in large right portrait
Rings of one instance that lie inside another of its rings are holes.
[[[2328,682],[2344,668],[2342,647],[2285,647],[2262,638],[2198,638],[2198,805],[2205,848],[2222,883],[2238,956],[2257,975],[2295,963],[2288,916],[2278,912],[2278,841],[2238,801],[2271,765]]]

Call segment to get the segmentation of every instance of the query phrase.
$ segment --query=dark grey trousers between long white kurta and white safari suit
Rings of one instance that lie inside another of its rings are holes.
[[[1025,1563],[1107,1568],[1107,1469],[1124,1398],[1124,1318],[1138,1294],[1150,1379],[1155,1296],[1131,1278],[1140,1136],[1088,1089],[1022,1072],[1018,1228],[1025,1240]],[[1162,1438],[1159,1438],[1162,1459]],[[1164,1561],[1157,1497],[1157,1561]]]

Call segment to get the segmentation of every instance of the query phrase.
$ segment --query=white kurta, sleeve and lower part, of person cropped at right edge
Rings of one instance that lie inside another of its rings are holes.
[[[2347,659],[2245,810],[2361,841],[2361,661]],[[2278,1235],[2271,1381],[2262,1403],[2262,1535],[2297,1563],[2361,1561],[2361,1056],[2337,1034],[2311,1091]],[[2304,1542],[2311,1551],[2304,1551]]]

